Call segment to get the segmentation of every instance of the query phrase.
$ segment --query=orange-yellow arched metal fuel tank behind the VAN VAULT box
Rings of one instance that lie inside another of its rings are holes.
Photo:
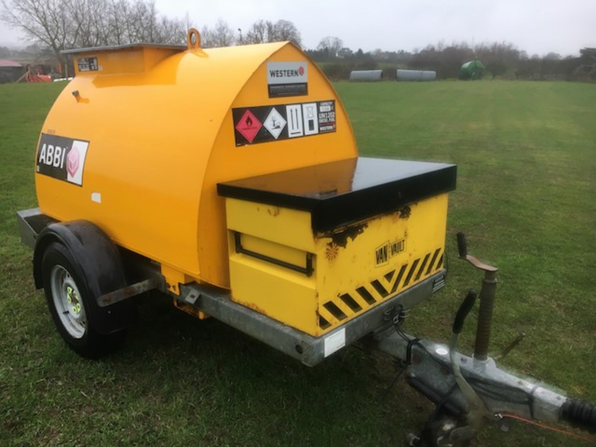
[[[60,221],[94,222],[119,246],[159,262],[173,293],[193,280],[229,288],[218,182],[357,156],[339,97],[290,42],[204,50],[132,45],[78,51],[73,60],[76,76],[42,128],[39,207]],[[270,97],[268,64],[281,62],[303,63],[307,94]],[[334,101],[336,131],[235,142],[233,109],[310,101]],[[76,140],[80,159],[60,159],[58,144],[45,143],[59,137]],[[75,183],[56,178],[57,169]]]

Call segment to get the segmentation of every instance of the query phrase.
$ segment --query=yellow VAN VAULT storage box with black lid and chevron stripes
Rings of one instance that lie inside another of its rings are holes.
[[[361,157],[219,184],[232,300],[320,336],[429,278],[455,170]]]

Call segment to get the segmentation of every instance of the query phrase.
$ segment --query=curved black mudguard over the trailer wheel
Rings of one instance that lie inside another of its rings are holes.
[[[63,244],[75,259],[75,268],[85,281],[89,297],[89,322],[101,334],[110,334],[128,327],[135,321],[136,308],[125,300],[101,308],[97,299],[105,293],[126,286],[120,252],[97,225],[89,221],[57,222],[46,226],[38,235],[33,249],[33,280],[43,288],[41,261],[46,247],[52,242]]]

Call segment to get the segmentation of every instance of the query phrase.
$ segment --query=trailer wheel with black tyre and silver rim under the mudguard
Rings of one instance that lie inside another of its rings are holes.
[[[89,300],[95,297],[77,274],[80,269],[75,265],[63,244],[54,242],[45,249],[41,268],[49,313],[71,349],[86,358],[100,358],[119,346],[125,331],[100,334],[94,329],[89,318]]]

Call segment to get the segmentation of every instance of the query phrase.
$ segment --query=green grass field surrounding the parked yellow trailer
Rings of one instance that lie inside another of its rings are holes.
[[[128,342],[77,357],[33,288],[14,212],[35,206],[33,157],[64,84],[0,86],[0,445],[401,446],[431,406],[390,363],[350,348],[308,368],[218,321],[157,297]],[[499,266],[492,347],[503,362],[596,401],[596,85],[539,82],[337,83],[361,154],[458,164],[448,287],[406,331],[446,340],[479,276]],[[470,352],[475,320],[464,329]],[[535,427],[483,433],[479,446],[573,446]]]

